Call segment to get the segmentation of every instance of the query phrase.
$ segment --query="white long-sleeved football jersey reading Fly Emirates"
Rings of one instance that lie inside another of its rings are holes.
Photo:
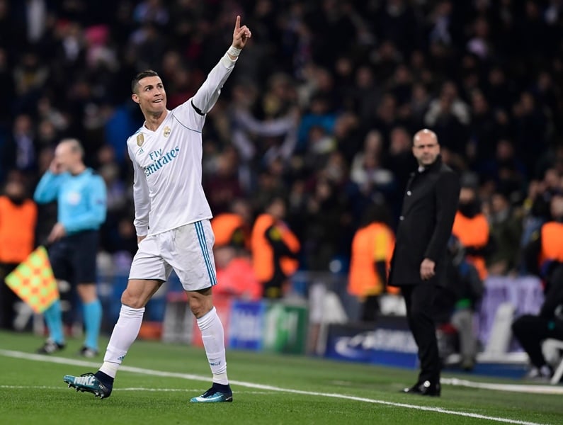
[[[201,183],[201,132],[205,113],[219,98],[234,62],[227,55],[222,57],[193,98],[168,111],[156,131],[143,125],[127,139],[135,171],[137,236],[166,232],[212,217]]]

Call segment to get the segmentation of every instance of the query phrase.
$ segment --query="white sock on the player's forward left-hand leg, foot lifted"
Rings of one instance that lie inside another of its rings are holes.
[[[115,378],[118,368],[125,358],[129,347],[139,334],[141,329],[144,307],[131,308],[121,305],[118,322],[113,327],[106,355],[103,356],[103,365],[100,371],[106,373],[111,378]]]

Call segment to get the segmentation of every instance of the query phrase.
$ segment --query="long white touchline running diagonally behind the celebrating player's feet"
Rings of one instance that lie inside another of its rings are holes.
[[[62,363],[65,365],[77,365],[84,367],[98,368],[99,363],[93,363],[89,361],[74,360],[72,358],[56,357],[56,356],[45,356],[43,354],[31,354],[23,353],[22,351],[12,351],[12,350],[0,350],[0,355],[13,358],[25,358],[27,360],[43,361],[47,363]],[[190,373],[174,373],[174,372],[164,372],[162,370],[152,370],[144,368],[133,368],[131,366],[121,366],[120,370],[125,370],[127,372],[141,373],[144,375],[153,375],[167,378],[181,378],[186,380],[196,380],[209,382],[209,377],[202,375],[192,375]],[[230,383],[233,385],[239,385],[241,387],[254,388],[256,390],[268,390],[275,392],[289,392],[290,394],[300,394],[300,395],[315,395],[319,397],[331,397],[339,399],[348,399],[355,402],[365,402],[373,404],[383,404],[385,406],[392,407],[403,407],[404,409],[416,409],[425,412],[436,412],[443,414],[452,414],[456,416],[464,416],[475,419],[487,419],[489,421],[504,422],[506,424],[517,424],[517,425],[545,425],[539,424],[538,422],[520,421],[518,419],[508,419],[496,416],[487,416],[484,414],[477,414],[471,412],[458,412],[455,410],[443,409],[442,407],[428,407],[428,406],[416,406],[413,404],[397,403],[397,402],[387,402],[385,400],[368,399],[364,397],[355,397],[352,395],[343,395],[332,392],[314,392],[314,391],[302,391],[302,390],[292,390],[291,388],[273,387],[271,385],[261,385],[255,384],[254,382],[244,382],[231,380]]]

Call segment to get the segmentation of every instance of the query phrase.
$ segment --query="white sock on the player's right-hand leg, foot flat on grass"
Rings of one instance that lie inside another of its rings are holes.
[[[224,331],[221,319],[217,316],[217,310],[213,307],[197,320],[207,361],[209,361],[213,374],[213,382],[227,385],[229,380],[227,379],[227,359],[224,352]]]

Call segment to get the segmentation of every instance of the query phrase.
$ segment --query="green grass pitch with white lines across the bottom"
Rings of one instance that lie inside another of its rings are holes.
[[[62,382],[101,362],[76,356],[80,343],[68,341],[57,356],[29,356],[42,339],[0,332],[0,424],[563,424],[561,394],[444,385],[438,399],[416,397],[399,393],[413,370],[246,351],[227,354],[234,402],[193,404],[190,397],[210,386],[205,353],[154,341],[135,342],[113,394],[101,400]]]

